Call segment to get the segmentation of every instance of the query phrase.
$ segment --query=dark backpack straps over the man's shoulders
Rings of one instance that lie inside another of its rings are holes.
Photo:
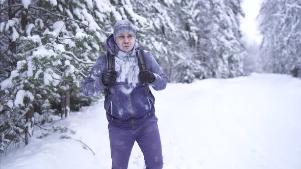
[[[136,56],[136,59],[138,60],[139,70],[141,71],[141,70],[147,69],[143,50],[140,49],[140,50],[136,51],[135,56]],[[107,51],[107,66],[108,66],[108,70],[109,69],[115,70],[115,55],[112,55],[109,51]],[[150,91],[150,89],[148,87],[148,82],[144,82],[143,86],[144,86],[144,92],[145,92],[145,94],[147,94]]]

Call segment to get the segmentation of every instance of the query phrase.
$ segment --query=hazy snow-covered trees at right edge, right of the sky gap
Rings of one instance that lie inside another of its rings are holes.
[[[264,1],[260,10],[264,70],[301,77],[301,2]]]

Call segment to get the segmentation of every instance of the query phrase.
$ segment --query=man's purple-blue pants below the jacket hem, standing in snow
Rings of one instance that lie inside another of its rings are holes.
[[[129,159],[135,141],[143,155],[146,168],[163,168],[163,157],[158,119],[155,115],[134,129],[123,129],[112,124],[108,125],[112,169],[128,168]]]

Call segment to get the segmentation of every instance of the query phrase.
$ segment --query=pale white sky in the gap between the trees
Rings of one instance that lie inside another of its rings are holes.
[[[246,35],[249,42],[257,42],[260,44],[261,35],[258,30],[258,21],[256,20],[259,14],[260,4],[262,0],[244,0],[242,8],[245,13],[245,17],[241,20],[242,33]]]

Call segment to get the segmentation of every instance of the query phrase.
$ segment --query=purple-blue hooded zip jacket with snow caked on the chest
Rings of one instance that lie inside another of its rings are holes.
[[[151,91],[145,94],[143,83],[138,80],[139,67],[135,52],[139,51],[139,45],[135,42],[132,51],[122,52],[114,42],[113,35],[107,38],[104,45],[108,52],[115,55],[117,78],[112,85],[104,85],[102,74],[108,70],[108,62],[106,54],[101,55],[83,80],[82,92],[90,97],[105,90],[104,107],[109,123],[134,128],[155,114],[155,97]],[[157,91],[165,89],[167,76],[152,53],[146,50],[143,52],[146,68],[155,75],[155,81],[150,85]]]

